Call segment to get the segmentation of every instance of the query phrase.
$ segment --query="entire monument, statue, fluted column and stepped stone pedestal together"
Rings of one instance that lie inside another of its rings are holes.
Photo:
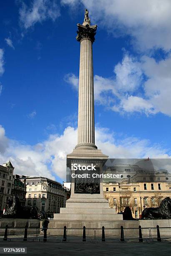
[[[88,10],[85,10],[83,25],[77,24],[77,41],[80,42],[80,72],[78,96],[78,144],[67,155],[67,167],[74,163],[88,166],[96,165],[96,172],[102,173],[103,164],[108,159],[95,145],[94,136],[94,84],[93,51],[97,25],[90,26]],[[91,173],[92,171],[90,171]],[[72,174],[76,171],[72,170]],[[123,216],[114,214],[108,201],[103,197],[103,179],[72,179],[71,195],[66,208],[54,214],[54,220],[70,227],[101,227],[103,223],[122,220]]]

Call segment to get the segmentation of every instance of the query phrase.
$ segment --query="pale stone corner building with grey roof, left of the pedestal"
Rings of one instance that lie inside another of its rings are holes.
[[[65,207],[67,193],[59,182],[45,177],[22,176],[20,180],[26,180],[26,205],[37,206],[51,218]]]

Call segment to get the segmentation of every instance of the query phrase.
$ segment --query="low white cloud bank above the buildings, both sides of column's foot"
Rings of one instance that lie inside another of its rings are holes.
[[[111,158],[171,158],[167,150],[150,141],[129,137],[118,140],[115,133],[107,128],[96,128],[96,145]],[[53,134],[47,140],[34,146],[13,141],[5,136],[0,126],[0,163],[9,159],[15,166],[16,174],[45,176],[51,179],[56,174],[66,178],[66,155],[73,151],[77,144],[77,129],[65,128],[62,135]]]

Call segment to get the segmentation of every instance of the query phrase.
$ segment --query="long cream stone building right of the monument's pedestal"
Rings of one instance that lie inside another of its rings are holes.
[[[139,218],[146,207],[158,207],[165,197],[171,197],[171,174],[166,170],[148,170],[129,164],[108,168],[106,173],[121,174],[120,180],[104,179],[103,193],[115,212],[126,206],[134,218]]]

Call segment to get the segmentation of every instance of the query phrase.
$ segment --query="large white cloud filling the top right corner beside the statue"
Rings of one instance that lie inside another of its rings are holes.
[[[92,23],[108,28],[114,36],[131,35],[138,49],[171,49],[170,0],[61,0],[61,3],[75,8],[82,3],[88,8]]]

